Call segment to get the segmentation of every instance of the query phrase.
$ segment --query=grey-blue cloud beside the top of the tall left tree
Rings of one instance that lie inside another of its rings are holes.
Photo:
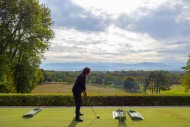
[[[72,0],[41,0],[51,9],[55,27],[86,31],[104,31],[110,21],[107,16],[95,16]],[[105,18],[106,17],[106,18]]]

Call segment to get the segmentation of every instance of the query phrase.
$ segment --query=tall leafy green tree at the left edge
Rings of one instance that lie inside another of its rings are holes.
[[[4,57],[0,66],[7,68],[0,70],[5,77],[0,85],[10,78],[17,92],[34,88],[43,53],[53,38],[51,26],[50,10],[38,0],[0,0],[0,57]]]

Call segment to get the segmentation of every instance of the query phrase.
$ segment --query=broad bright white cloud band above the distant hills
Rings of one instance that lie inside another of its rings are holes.
[[[163,45],[147,34],[122,30],[114,25],[105,32],[81,32],[56,28],[47,61],[54,62],[143,62],[160,61]]]

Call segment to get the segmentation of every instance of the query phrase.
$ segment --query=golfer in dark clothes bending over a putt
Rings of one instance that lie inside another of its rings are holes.
[[[87,97],[86,93],[86,76],[90,73],[90,68],[86,67],[83,69],[82,73],[77,77],[75,84],[73,86],[73,95],[75,99],[75,113],[76,113],[76,121],[82,122],[83,120],[80,118],[83,114],[80,113],[80,106],[82,103],[81,93],[83,93],[84,97]]]

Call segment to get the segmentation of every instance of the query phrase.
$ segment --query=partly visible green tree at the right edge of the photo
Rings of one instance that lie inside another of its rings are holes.
[[[182,78],[182,85],[185,86],[185,91],[187,92],[190,89],[190,55],[189,55],[189,59],[187,61],[186,66],[182,67],[185,71],[186,74],[185,76]]]

